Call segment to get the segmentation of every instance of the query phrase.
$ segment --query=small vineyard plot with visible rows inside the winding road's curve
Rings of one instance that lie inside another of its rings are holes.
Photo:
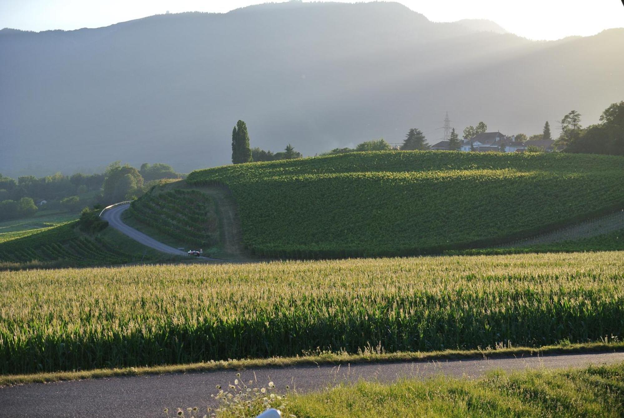
[[[168,241],[196,248],[208,248],[218,241],[215,200],[197,190],[147,193],[132,202],[128,211],[135,221],[165,235]]]

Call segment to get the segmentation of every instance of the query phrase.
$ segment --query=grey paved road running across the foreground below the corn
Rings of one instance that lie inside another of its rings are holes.
[[[300,392],[314,391],[340,382],[391,382],[401,377],[425,378],[444,374],[479,377],[494,369],[561,369],[624,361],[624,352],[570,354],[502,359],[441,362],[400,362],[348,366],[299,366],[241,371],[241,379],[254,380],[253,387],[273,381],[276,391],[285,386]],[[210,394],[217,384],[227,387],[236,371],[213,371],[160,376],[112,377],[85,381],[29,384],[0,388],[0,417],[163,417],[163,408],[214,406]]]

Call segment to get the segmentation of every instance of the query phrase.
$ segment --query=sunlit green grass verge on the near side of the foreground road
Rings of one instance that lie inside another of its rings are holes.
[[[236,397],[236,396],[235,396]],[[436,377],[358,382],[328,391],[235,402],[217,417],[253,416],[265,406],[307,417],[622,417],[624,363],[585,369],[491,372],[476,380]],[[242,405],[241,405],[242,404]],[[268,405],[266,405],[268,404]]]

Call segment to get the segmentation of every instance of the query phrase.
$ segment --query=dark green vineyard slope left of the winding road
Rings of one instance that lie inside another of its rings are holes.
[[[61,265],[115,265],[133,261],[99,236],[77,231],[78,221],[42,229],[37,233],[0,243],[1,263],[55,262]]]

